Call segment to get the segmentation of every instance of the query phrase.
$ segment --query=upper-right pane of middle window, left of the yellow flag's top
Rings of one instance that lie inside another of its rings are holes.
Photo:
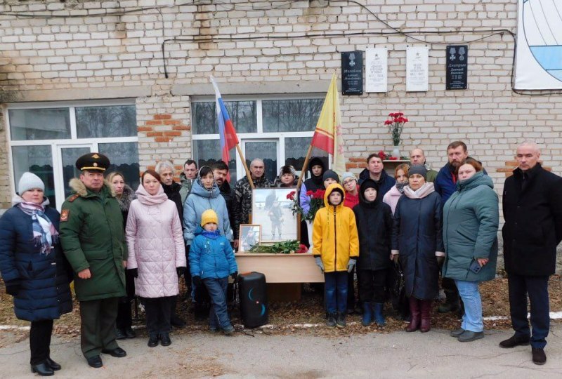
[[[263,132],[313,131],[322,99],[262,100]]]

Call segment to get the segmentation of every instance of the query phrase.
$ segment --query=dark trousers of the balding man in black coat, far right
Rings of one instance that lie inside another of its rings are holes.
[[[549,335],[549,277],[508,274],[511,325],[518,337],[529,338],[532,347],[543,349]],[[532,335],[527,320],[527,294],[531,305]]]

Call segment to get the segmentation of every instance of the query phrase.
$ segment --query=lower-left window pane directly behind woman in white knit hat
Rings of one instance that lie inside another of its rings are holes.
[[[18,182],[23,173],[29,171],[43,180],[45,196],[48,197],[51,206],[55,207],[55,178],[51,146],[14,146],[12,147],[12,161],[15,191],[18,191]]]

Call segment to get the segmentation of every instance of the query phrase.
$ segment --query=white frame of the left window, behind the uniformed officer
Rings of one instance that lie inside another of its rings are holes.
[[[63,180],[62,161],[60,159],[60,147],[84,147],[91,146],[91,151],[98,151],[98,144],[112,142],[136,142],[138,144],[138,135],[131,137],[111,137],[111,138],[77,138],[76,130],[76,113],[77,107],[107,107],[116,105],[136,105],[134,98],[111,99],[111,100],[75,100],[75,101],[49,101],[49,102],[13,102],[8,103],[5,108],[6,115],[6,136],[8,138],[8,166],[9,174],[13,180],[10,181],[12,193],[15,194],[16,179],[13,168],[12,147],[16,146],[51,146],[51,157],[53,159],[53,181],[55,183],[55,199],[57,200],[57,208],[60,211],[64,200],[59,196],[63,192],[60,182]],[[53,140],[12,140],[12,130],[10,124],[9,110],[13,109],[49,109],[49,108],[67,108],[70,114],[70,138],[53,139]]]

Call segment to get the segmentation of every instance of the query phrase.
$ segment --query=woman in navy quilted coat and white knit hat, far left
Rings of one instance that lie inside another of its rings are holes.
[[[60,370],[49,351],[53,319],[72,311],[72,270],[58,241],[60,215],[44,189],[37,175],[22,175],[13,207],[0,218],[0,272],[15,316],[31,321],[32,372],[50,376]]]

